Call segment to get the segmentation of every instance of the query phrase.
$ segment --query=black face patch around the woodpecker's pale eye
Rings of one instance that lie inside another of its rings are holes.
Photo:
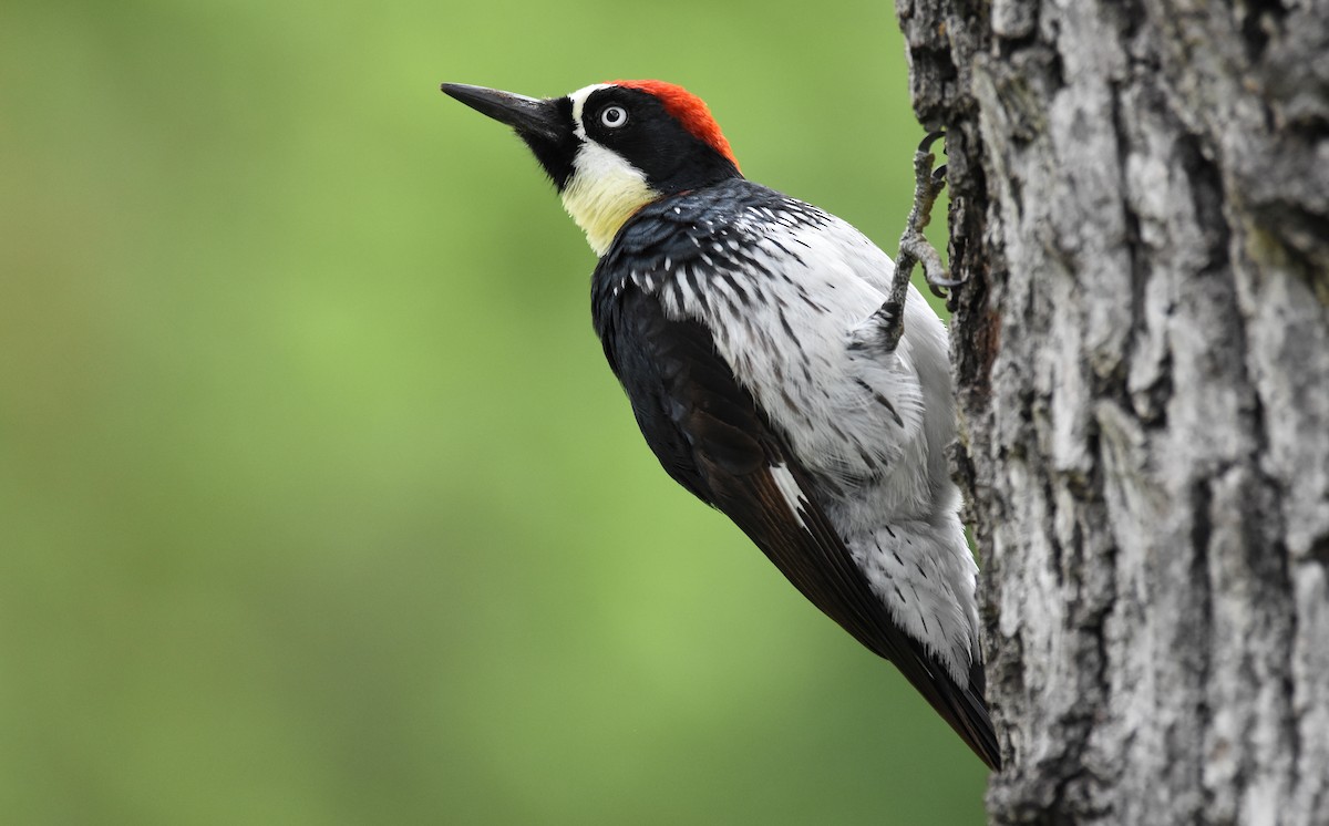
[[[684,129],[658,97],[639,89],[591,92],[582,108],[582,127],[587,138],[626,158],[646,174],[651,189],[666,195],[739,177],[732,161]]]

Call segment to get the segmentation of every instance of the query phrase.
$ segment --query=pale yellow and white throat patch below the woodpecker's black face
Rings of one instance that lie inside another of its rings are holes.
[[[623,223],[659,197],[641,170],[594,141],[577,153],[562,191],[563,208],[586,232],[595,255],[605,255]]]

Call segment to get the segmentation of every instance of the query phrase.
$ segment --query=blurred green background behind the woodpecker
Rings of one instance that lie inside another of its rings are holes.
[[[0,822],[982,821],[659,470],[578,230],[437,89],[610,77],[893,248],[889,4],[7,0]]]

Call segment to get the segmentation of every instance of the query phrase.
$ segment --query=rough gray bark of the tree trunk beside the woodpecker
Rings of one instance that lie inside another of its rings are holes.
[[[1329,0],[900,0],[997,823],[1329,823]]]

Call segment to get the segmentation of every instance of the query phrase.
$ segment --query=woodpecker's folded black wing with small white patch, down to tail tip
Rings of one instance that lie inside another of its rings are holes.
[[[827,616],[894,663],[978,757],[999,768],[982,665],[975,663],[969,684],[960,685],[890,620],[816,505],[807,474],[716,353],[710,331],[670,320],[654,296],[627,284],[597,304],[605,353],[664,470],[730,517]],[[796,497],[788,485],[781,490],[776,474],[785,471],[797,483]]]

